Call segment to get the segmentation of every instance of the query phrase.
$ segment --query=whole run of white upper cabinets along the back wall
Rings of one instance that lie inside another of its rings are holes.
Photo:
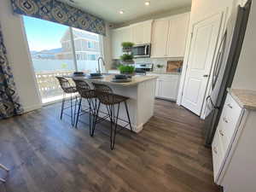
[[[152,44],[151,57],[183,57],[189,31],[185,13],[160,20],[147,20],[111,30],[113,59],[122,55],[123,42]]]

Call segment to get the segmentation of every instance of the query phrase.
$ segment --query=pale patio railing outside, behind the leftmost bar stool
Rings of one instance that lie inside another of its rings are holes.
[[[43,103],[55,102],[62,98],[63,91],[59,81],[55,76],[71,75],[73,71],[53,71],[36,73],[38,89]],[[69,79],[70,84],[74,85],[73,80]]]

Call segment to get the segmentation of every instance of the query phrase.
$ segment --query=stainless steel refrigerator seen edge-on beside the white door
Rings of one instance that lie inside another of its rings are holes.
[[[231,86],[236,73],[251,4],[252,0],[248,0],[245,6],[239,5],[233,9],[218,47],[218,55],[212,72],[212,90],[210,96],[207,96],[207,110],[211,111],[207,116],[205,126],[205,145],[207,147],[212,144],[227,95],[227,88]]]

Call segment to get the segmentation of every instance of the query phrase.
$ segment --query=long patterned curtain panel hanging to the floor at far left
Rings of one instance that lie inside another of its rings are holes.
[[[0,25],[0,119],[12,117],[23,112],[15,89],[14,77],[7,60]]]

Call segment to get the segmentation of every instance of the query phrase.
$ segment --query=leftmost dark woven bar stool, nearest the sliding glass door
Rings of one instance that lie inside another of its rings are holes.
[[[55,78],[59,80],[59,83],[61,85],[61,89],[63,90],[63,98],[62,98],[62,104],[61,104],[61,119],[62,119],[64,110],[70,108],[71,123],[72,123],[72,125],[74,125],[73,96],[72,96],[72,94],[77,93],[78,90],[76,89],[76,87],[72,86],[67,79],[65,79],[61,76],[56,76]],[[70,96],[70,106],[67,107],[67,108],[65,108],[66,94],[71,94],[71,96]],[[74,106],[75,109],[74,109],[74,111],[76,111],[76,106],[77,106],[77,96],[75,96],[75,106]],[[67,113],[64,113],[64,114],[67,114]]]

